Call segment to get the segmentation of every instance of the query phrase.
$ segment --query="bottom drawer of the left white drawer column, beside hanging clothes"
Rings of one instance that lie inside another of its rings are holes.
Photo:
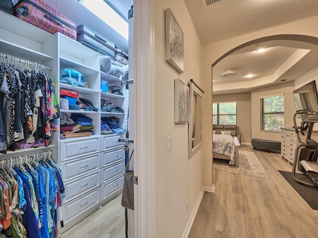
[[[101,187],[99,186],[72,202],[62,205],[64,222],[62,232],[68,230],[100,207],[100,191]]]

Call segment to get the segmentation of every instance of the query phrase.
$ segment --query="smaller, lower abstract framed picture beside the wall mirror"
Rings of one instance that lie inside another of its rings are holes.
[[[180,79],[174,79],[174,122],[189,121],[190,90]]]

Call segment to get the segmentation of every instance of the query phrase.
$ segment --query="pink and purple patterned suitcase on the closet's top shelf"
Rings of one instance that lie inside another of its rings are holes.
[[[61,32],[74,40],[77,38],[75,22],[41,0],[19,0],[14,15],[52,34]]]

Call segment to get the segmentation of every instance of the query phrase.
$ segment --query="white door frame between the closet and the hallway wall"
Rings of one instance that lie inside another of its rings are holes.
[[[154,0],[134,0],[134,228],[131,238],[155,238]],[[133,236],[134,235],[134,236]]]

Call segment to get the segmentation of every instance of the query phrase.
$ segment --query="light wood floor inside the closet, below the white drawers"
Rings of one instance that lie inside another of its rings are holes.
[[[62,238],[125,238],[121,195],[63,233]]]

